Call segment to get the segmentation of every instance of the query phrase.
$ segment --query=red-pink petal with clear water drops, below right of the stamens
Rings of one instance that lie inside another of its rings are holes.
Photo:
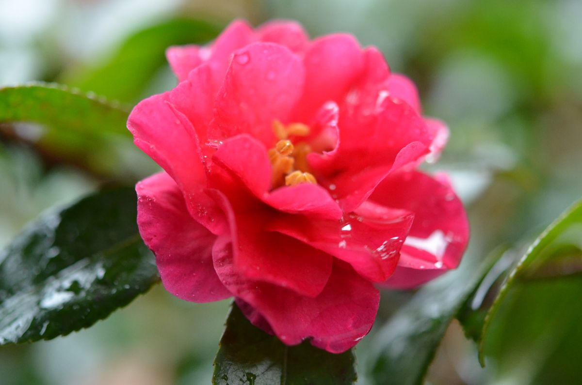
[[[365,279],[382,282],[396,269],[413,218],[409,212],[366,202],[341,221],[279,216],[267,229],[328,252],[352,265]]]

